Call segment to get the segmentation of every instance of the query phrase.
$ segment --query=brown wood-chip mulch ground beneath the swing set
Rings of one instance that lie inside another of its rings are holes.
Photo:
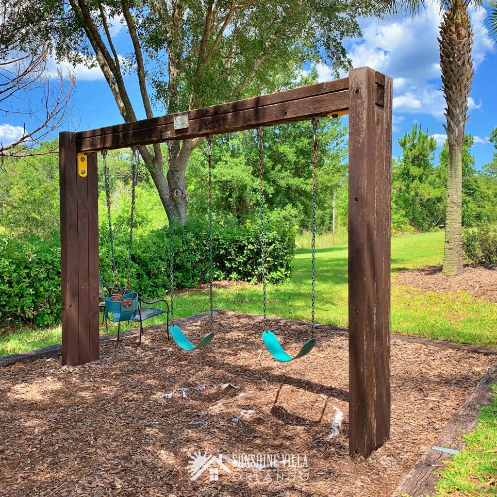
[[[182,328],[198,341],[208,320]],[[309,331],[271,329],[290,351]],[[311,354],[287,364],[263,348],[259,320],[221,312],[214,331],[199,351],[154,329],[142,347],[135,338],[103,344],[84,366],[48,358],[0,368],[0,495],[390,496],[495,362],[394,339],[392,436],[361,461],[348,456],[345,331],[317,330]],[[329,438],[335,408],[344,421]],[[198,453],[227,455],[230,473],[214,464],[218,481],[209,469],[190,481]],[[305,455],[308,468],[247,471],[234,454],[295,454],[301,465]]]

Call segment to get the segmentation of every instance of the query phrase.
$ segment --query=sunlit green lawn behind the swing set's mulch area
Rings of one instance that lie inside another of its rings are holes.
[[[326,238],[329,241],[329,237]],[[317,246],[322,246],[318,238]],[[305,240],[300,240],[305,245]],[[441,265],[443,232],[423,233],[392,239],[392,273],[428,265]],[[316,250],[316,321],[347,325],[347,246],[341,240]],[[292,278],[269,285],[267,313],[271,316],[310,321],[311,251],[298,250]],[[216,289],[214,307],[244,313],[262,314],[261,285],[234,283]],[[176,296],[175,317],[209,309],[209,294],[193,290]],[[164,323],[165,315],[148,321]],[[440,338],[462,343],[496,346],[497,304],[472,297],[466,291],[423,292],[409,286],[393,286],[392,331],[408,335]],[[122,327],[128,329],[127,326]],[[114,330],[115,327],[111,327]],[[102,327],[102,333],[104,333]],[[60,342],[60,327],[50,330],[10,333],[0,338],[0,355]]]

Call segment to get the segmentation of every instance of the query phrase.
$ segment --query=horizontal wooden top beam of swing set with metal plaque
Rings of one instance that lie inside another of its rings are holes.
[[[179,114],[81,131],[76,133],[76,148],[78,152],[87,152],[164,143],[302,121],[314,116],[341,115],[347,109],[348,78],[342,78]],[[188,127],[175,130],[174,117],[183,114],[188,115]]]

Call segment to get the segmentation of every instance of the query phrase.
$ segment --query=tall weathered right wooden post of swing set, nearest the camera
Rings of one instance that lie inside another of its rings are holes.
[[[349,453],[390,436],[392,79],[349,73]]]

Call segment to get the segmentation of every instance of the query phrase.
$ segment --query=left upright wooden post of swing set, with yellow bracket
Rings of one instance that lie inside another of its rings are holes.
[[[60,133],[62,363],[71,366],[99,357],[96,155],[84,162],[80,175],[76,134]]]

